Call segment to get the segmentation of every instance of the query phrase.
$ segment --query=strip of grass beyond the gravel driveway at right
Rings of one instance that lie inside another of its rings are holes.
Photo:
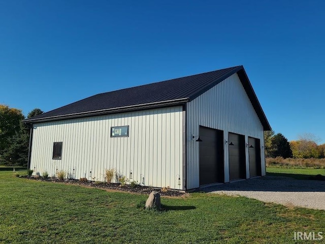
[[[296,179],[309,179],[313,175],[325,175],[325,169],[291,169],[291,168],[266,168],[267,175],[288,176]]]

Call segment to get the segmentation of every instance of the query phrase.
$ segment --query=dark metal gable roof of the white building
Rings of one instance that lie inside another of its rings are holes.
[[[78,102],[24,120],[25,123],[117,113],[136,109],[180,105],[189,102],[222,80],[238,73],[250,101],[265,130],[271,127],[259,104],[243,66],[198,75],[115,90],[85,98]]]

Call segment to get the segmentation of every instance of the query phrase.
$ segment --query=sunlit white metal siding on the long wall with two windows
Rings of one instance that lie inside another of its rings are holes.
[[[91,171],[101,181],[114,168],[126,178],[132,171],[131,181],[142,185],[182,189],[182,114],[177,106],[35,124],[30,168],[51,176],[75,169],[77,179],[90,179]],[[129,137],[111,138],[114,126],[129,126]],[[53,142],[60,141],[62,159],[52,160]]]

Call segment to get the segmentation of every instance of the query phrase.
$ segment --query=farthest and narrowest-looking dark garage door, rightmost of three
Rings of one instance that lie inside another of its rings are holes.
[[[261,176],[261,149],[259,147],[259,139],[248,137],[248,151],[249,151],[249,175]]]

